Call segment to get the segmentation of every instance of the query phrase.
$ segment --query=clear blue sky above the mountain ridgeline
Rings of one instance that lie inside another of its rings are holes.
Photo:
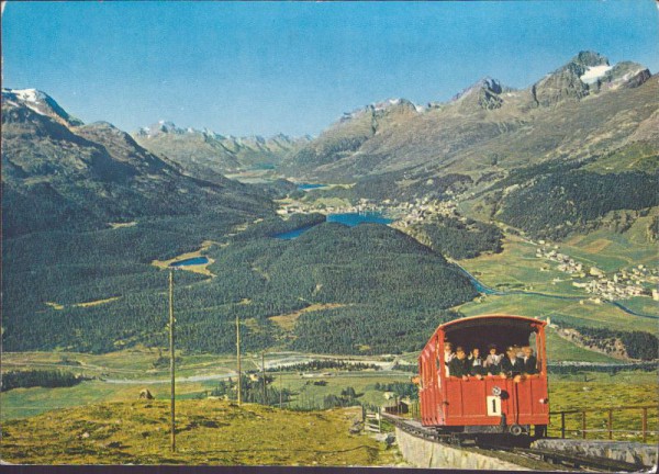
[[[483,76],[527,87],[583,49],[656,72],[658,24],[652,0],[10,1],[3,87],[125,131],[317,135],[388,98],[445,101]]]

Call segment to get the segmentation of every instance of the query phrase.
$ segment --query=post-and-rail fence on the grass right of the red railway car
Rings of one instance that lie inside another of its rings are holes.
[[[637,416],[623,416],[623,413],[634,411]],[[617,417],[617,429],[614,420],[614,413]],[[638,416],[638,414],[640,416]],[[651,416],[654,414],[654,416]],[[560,438],[568,438],[568,435],[587,439],[588,435],[593,435],[592,439],[602,439],[605,436],[613,440],[624,437],[626,441],[629,438],[639,438],[644,443],[649,438],[657,440],[659,435],[659,406],[639,405],[639,406],[619,406],[607,408],[581,408],[570,410],[559,410],[549,413],[550,422],[548,431],[554,435],[560,433]],[[556,417],[560,418],[559,428],[555,428],[552,422]],[[651,419],[652,429],[648,428],[648,421]],[[590,428],[589,428],[590,421]]]

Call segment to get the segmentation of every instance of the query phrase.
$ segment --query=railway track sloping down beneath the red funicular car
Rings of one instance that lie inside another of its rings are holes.
[[[573,453],[567,453],[558,450],[547,449],[534,449],[513,447],[503,442],[494,442],[490,437],[485,442],[480,440],[474,441],[472,439],[466,440],[459,437],[459,433],[442,433],[435,429],[426,428],[416,420],[410,420],[401,418],[391,414],[382,414],[389,422],[395,425],[396,428],[405,431],[406,433],[431,442],[443,443],[454,447],[473,447],[484,451],[503,451],[514,454],[520,458],[541,461],[555,466],[562,466],[566,469],[588,469],[589,471],[596,472],[638,472],[647,471],[647,467],[639,464],[633,464],[625,461],[617,461],[607,458],[594,458],[584,456]],[[530,441],[529,441],[530,442]]]

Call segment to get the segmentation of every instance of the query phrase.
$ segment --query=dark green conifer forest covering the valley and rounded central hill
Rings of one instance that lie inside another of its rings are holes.
[[[4,349],[165,346],[167,274],[150,260],[193,250],[230,224],[172,218],[9,239]],[[295,240],[238,236],[208,251],[216,276],[176,272],[177,340],[187,351],[232,351],[236,315],[245,350],[409,350],[448,317],[445,308],[477,294],[442,256],[386,226],[321,224]],[[306,313],[292,332],[269,319],[312,304],[333,309]]]

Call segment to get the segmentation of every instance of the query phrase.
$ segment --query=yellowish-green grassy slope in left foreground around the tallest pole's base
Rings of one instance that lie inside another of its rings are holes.
[[[294,413],[220,400],[187,400],[177,407],[176,453],[169,451],[169,405],[139,400],[5,422],[2,458],[12,463],[45,464],[395,462],[393,453],[383,451],[373,439],[348,433],[353,420],[360,419],[360,409]]]

